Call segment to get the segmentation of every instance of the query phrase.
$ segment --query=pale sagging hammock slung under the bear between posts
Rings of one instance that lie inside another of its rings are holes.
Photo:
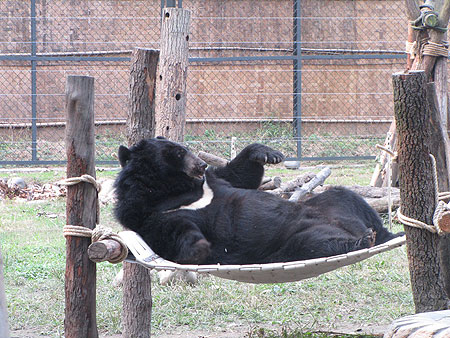
[[[317,277],[340,267],[357,263],[378,253],[400,247],[406,242],[405,236],[402,236],[368,249],[352,251],[343,255],[294,262],[246,265],[191,265],[174,263],[158,256],[133,231],[122,231],[119,233],[119,236],[135,256],[135,260],[127,260],[128,262],[138,263],[146,268],[155,270],[209,273],[217,277],[245,283],[285,283]]]

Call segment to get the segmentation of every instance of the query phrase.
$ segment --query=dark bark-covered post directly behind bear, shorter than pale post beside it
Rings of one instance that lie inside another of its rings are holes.
[[[155,135],[155,87],[159,51],[136,48],[130,67],[128,145]],[[152,293],[149,270],[123,263],[123,337],[149,338]]]

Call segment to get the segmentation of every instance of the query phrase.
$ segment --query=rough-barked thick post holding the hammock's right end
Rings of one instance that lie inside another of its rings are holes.
[[[432,224],[435,187],[425,72],[396,73],[392,79],[401,210],[407,217]],[[437,254],[438,235],[412,227],[405,227],[405,232],[416,312],[445,309],[447,297]]]

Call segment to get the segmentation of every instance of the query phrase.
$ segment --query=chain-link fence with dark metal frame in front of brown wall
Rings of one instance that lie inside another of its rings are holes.
[[[229,156],[264,142],[291,158],[368,158],[405,68],[404,2],[0,2],[0,164],[65,160],[65,79],[95,77],[99,162],[126,143],[134,47],[158,48],[161,6],[192,11],[185,141]]]

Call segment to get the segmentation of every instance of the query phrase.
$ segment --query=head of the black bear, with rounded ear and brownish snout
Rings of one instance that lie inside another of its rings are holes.
[[[124,169],[133,168],[164,176],[187,175],[202,178],[207,167],[188,148],[161,136],[142,140],[130,148],[120,146],[118,155]]]

